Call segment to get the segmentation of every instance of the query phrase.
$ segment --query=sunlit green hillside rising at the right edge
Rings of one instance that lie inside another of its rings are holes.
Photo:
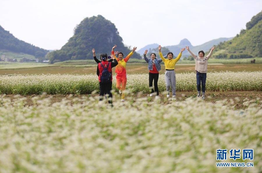
[[[262,11],[246,24],[246,30],[242,29],[232,40],[217,45],[213,57],[227,59],[262,57],[261,19]]]

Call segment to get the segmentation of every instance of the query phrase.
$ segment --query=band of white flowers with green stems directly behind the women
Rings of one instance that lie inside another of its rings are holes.
[[[127,75],[127,89],[149,92],[148,74]],[[262,91],[262,72],[207,73],[207,91]],[[113,89],[116,80],[113,76]],[[165,91],[164,75],[159,75],[159,91]],[[176,74],[176,91],[196,91],[196,74]],[[2,75],[3,94],[88,94],[99,90],[97,75]]]

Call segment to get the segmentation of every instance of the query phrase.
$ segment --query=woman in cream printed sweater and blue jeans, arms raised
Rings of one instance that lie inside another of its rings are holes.
[[[188,52],[194,57],[196,65],[195,72],[197,73],[197,98],[200,97],[201,85],[202,85],[202,99],[205,99],[205,91],[206,91],[206,72],[207,72],[207,64],[208,59],[211,57],[213,50],[215,47],[211,47],[211,50],[208,56],[205,56],[205,52],[203,50],[198,52],[198,55],[195,55],[188,46],[186,46]]]

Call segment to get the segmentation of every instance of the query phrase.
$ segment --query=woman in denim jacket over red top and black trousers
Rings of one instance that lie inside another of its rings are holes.
[[[146,57],[148,50],[145,50],[144,53],[144,60],[148,63],[148,70],[149,70],[149,87],[151,88],[151,93],[150,97],[153,96],[154,89],[153,89],[153,80],[154,80],[154,88],[155,88],[155,93],[156,99],[159,99],[159,92],[158,92],[158,87],[157,87],[157,81],[158,81],[158,76],[159,76],[159,71],[161,70],[161,65],[160,63],[162,62],[162,59],[157,59],[155,56],[155,53],[152,53],[150,55],[150,59]]]

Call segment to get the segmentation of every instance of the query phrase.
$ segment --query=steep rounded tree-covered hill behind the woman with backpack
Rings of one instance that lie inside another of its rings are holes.
[[[47,54],[51,63],[74,60],[93,59],[92,48],[96,54],[111,54],[111,48],[116,44],[115,51],[123,52],[124,56],[131,52],[131,48],[125,47],[123,39],[113,23],[98,15],[85,18],[75,28],[74,35],[68,40],[61,50],[49,52]],[[132,58],[141,59],[136,52]]]

